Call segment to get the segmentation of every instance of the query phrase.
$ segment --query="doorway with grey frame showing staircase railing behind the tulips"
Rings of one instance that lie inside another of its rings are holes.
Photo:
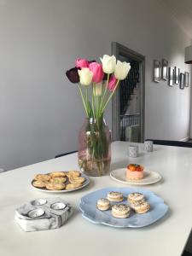
[[[131,64],[127,78],[119,84],[112,100],[113,141],[144,142],[145,57],[113,42],[112,54]]]

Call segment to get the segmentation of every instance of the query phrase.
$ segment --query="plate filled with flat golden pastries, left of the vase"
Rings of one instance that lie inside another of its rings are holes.
[[[32,179],[32,188],[50,193],[61,193],[82,189],[89,183],[89,177],[79,171],[49,172],[37,174]]]

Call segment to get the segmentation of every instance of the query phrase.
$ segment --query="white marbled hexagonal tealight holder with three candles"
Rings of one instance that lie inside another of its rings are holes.
[[[15,221],[21,229],[29,231],[60,228],[73,213],[70,204],[61,198],[39,198],[15,210]]]

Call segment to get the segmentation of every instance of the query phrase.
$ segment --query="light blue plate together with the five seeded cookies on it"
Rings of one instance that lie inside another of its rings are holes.
[[[166,203],[148,189],[107,188],[84,195],[79,208],[94,224],[115,228],[142,228],[168,211]]]

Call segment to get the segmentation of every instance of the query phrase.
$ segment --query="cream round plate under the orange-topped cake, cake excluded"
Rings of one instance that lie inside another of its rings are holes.
[[[110,177],[119,183],[132,184],[132,185],[148,185],[152,183],[157,183],[160,181],[161,176],[158,172],[144,171],[143,179],[129,180],[125,176],[126,168],[116,169],[110,172]]]

